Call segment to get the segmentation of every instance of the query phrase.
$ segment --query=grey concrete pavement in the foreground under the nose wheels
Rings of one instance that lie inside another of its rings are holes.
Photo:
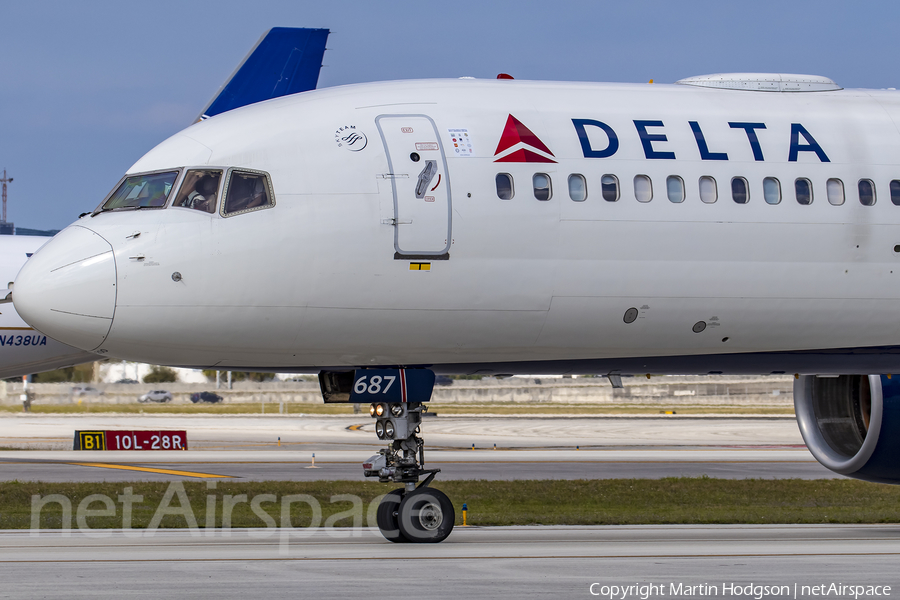
[[[458,527],[434,545],[370,529],[228,533],[3,531],[0,598],[592,598],[647,584],[669,598],[756,597],[746,586],[786,586],[759,588],[764,598],[821,597],[802,586],[831,584],[900,592],[896,525]]]

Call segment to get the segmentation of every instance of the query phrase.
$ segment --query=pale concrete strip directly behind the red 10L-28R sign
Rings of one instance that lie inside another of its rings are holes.
[[[35,415],[0,416],[0,446],[71,449],[76,429],[184,429],[194,449],[259,450],[282,445],[320,450],[379,448],[374,419],[321,415]],[[604,448],[803,444],[793,417],[431,417],[429,448]]]

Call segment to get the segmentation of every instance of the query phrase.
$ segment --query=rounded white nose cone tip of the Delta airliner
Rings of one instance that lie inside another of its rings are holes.
[[[98,348],[116,308],[112,246],[90,229],[64,229],[19,271],[13,304],[41,333],[83,350]]]

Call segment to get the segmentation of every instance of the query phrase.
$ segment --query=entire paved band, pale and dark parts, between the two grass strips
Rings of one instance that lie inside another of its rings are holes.
[[[372,422],[366,416],[9,416],[0,418],[0,446],[30,450],[0,452],[0,481],[362,480],[362,461],[382,447]],[[191,449],[71,450],[75,430],[102,429],[184,429]],[[442,469],[441,479],[837,477],[809,454],[791,418],[439,417],[423,430],[428,466]],[[313,454],[315,469],[308,468]]]

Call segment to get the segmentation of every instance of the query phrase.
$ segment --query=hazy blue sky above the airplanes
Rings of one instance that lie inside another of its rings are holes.
[[[269,27],[332,30],[319,86],[424,77],[673,82],[728,71],[900,87],[900,3],[255,0],[3,3],[8,219],[58,229],[191,123]]]

